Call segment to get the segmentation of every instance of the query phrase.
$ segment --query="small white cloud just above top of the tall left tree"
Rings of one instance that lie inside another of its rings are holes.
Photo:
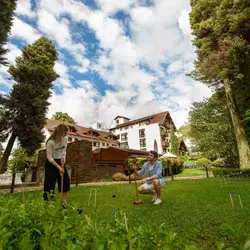
[[[19,38],[27,43],[33,43],[41,34],[29,24],[15,17],[11,28],[11,37]]]

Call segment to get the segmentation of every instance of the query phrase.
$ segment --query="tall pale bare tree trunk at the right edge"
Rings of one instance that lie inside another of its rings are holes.
[[[233,97],[232,86],[229,79],[224,80],[224,87],[226,92],[227,106],[233,122],[237,147],[239,151],[240,168],[250,168],[250,149],[247,141],[246,132],[243,128],[238,110],[236,108]]]

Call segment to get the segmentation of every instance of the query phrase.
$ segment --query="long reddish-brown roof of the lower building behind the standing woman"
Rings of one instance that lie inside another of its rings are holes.
[[[92,128],[86,128],[86,127],[75,125],[69,122],[62,122],[62,121],[47,119],[45,127],[49,131],[53,131],[59,124],[62,124],[62,123],[69,127],[74,127],[76,129],[75,132],[68,132],[68,134],[79,136],[85,140],[90,140],[90,141],[105,141],[105,142],[119,144],[119,141],[117,140],[108,139],[108,136],[114,136],[114,137],[116,136],[115,134],[111,132],[104,132],[104,131],[95,130]],[[97,136],[87,135],[87,133],[90,131],[96,132],[98,133],[98,135]]]

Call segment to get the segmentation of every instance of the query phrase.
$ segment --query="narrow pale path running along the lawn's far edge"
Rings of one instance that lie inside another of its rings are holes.
[[[188,176],[188,177],[174,177],[174,180],[194,180],[194,179],[205,179],[206,176]],[[166,178],[167,181],[171,181],[171,177]],[[133,181],[132,181],[133,183]],[[104,186],[104,185],[117,185],[117,184],[129,184],[128,181],[110,181],[110,182],[88,182],[88,183],[81,183],[78,186]],[[75,184],[71,185],[75,187]],[[36,190],[43,190],[43,186],[33,186],[33,187],[17,187],[14,189],[15,193],[23,192],[23,191],[36,191]],[[9,193],[9,189],[0,189],[0,194],[7,194]]]

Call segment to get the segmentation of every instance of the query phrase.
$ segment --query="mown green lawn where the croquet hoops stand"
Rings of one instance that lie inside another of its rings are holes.
[[[96,208],[93,199],[88,206],[91,188],[97,190]],[[217,242],[237,241],[230,238],[224,230],[227,224],[235,229],[240,224],[238,233],[250,234],[249,189],[250,182],[244,180],[232,180],[227,188],[221,188],[220,179],[216,178],[169,181],[162,189],[162,204],[153,205],[151,196],[141,195],[143,205],[135,206],[134,184],[78,186],[71,189],[68,202],[82,208],[85,214],[94,216],[99,222],[110,221],[114,218],[114,212],[123,211],[130,227],[146,224],[159,226],[166,223],[185,244],[196,242],[206,249],[213,249]],[[243,210],[236,198],[235,209],[232,208],[229,197],[229,192],[232,191],[241,194]],[[40,199],[42,192],[35,192],[37,199]],[[34,199],[35,192],[25,193],[25,199]]]

